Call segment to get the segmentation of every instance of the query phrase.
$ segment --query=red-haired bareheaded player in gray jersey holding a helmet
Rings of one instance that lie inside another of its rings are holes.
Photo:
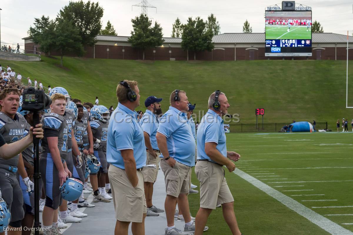
[[[41,143],[43,152],[39,161],[46,194],[43,209],[44,234],[58,234],[58,208],[62,202],[59,187],[66,181],[66,177],[71,177],[71,172],[65,162],[68,135],[66,120],[62,116],[65,113],[65,96],[55,93],[50,98],[51,113],[44,114],[41,120],[44,138]]]

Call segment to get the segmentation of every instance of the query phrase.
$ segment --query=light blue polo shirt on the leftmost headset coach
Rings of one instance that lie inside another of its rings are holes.
[[[146,165],[146,147],[143,130],[137,120],[137,113],[123,104],[110,115],[107,140],[107,162],[125,169],[121,151],[132,149],[136,168]]]

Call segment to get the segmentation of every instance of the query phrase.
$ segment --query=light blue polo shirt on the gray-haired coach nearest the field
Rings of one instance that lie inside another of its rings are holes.
[[[226,133],[224,132],[223,120],[213,110],[209,109],[197,128],[197,159],[207,159],[212,161],[205,153],[205,143],[214,142],[216,149],[227,157]]]

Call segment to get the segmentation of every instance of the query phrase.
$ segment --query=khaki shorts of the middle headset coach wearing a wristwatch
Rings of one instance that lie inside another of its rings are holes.
[[[173,197],[179,197],[180,193],[189,194],[189,178],[191,167],[175,161],[174,167],[170,167],[165,160],[161,161],[161,168],[166,183],[166,193]]]

